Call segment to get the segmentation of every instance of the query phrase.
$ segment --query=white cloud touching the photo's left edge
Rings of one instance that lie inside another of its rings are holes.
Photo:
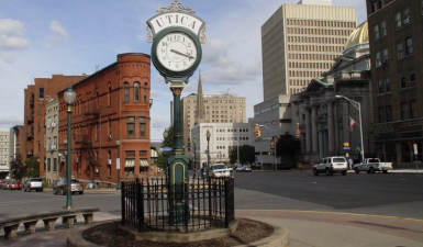
[[[11,19],[0,19],[0,49],[22,50],[27,48],[30,41],[24,37],[24,23]]]

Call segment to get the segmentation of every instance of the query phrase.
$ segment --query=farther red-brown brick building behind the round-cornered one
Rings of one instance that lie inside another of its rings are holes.
[[[22,159],[40,157],[40,176],[45,176],[45,104],[57,92],[84,78],[82,76],[53,75],[52,78],[35,78],[34,85],[24,89],[24,125],[20,133],[20,154]]]

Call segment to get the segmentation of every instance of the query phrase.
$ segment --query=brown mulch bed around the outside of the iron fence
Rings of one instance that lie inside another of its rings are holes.
[[[219,237],[208,240],[190,242],[190,243],[157,243],[131,240],[118,227],[121,221],[109,222],[96,227],[91,227],[84,232],[85,239],[97,245],[110,247],[231,247],[237,245],[246,245],[268,237],[274,233],[274,227],[253,220],[238,218],[240,225],[235,233],[231,236]]]

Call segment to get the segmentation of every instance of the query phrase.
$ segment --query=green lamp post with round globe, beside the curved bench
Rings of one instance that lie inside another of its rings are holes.
[[[71,119],[71,112],[73,112],[73,105],[75,103],[76,99],[76,92],[74,91],[73,87],[69,86],[68,89],[64,93],[64,99],[66,103],[66,111],[67,111],[67,160],[66,160],[66,182],[67,182],[67,191],[66,191],[66,209],[71,210],[73,209],[73,202],[71,202],[71,166],[70,166],[70,146],[71,146],[71,136],[70,136],[70,119]]]

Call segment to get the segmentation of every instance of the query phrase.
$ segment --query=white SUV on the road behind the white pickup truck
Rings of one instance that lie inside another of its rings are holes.
[[[314,176],[319,176],[319,173],[331,176],[335,172],[341,172],[343,176],[346,176],[347,170],[348,162],[343,156],[322,158],[319,164],[313,166]]]

